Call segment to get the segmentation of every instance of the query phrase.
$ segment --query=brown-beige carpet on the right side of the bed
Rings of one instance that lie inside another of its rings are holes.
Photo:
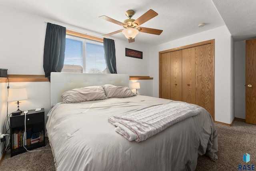
[[[256,125],[234,121],[232,127],[215,124],[218,131],[218,160],[199,157],[196,171],[237,171],[238,165],[256,165]],[[250,154],[250,162],[243,155]]]

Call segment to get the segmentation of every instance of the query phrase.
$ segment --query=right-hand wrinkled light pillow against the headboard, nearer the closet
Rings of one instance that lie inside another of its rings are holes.
[[[132,92],[132,90],[129,89],[129,87],[122,87],[122,86],[115,86],[111,84],[105,84],[103,86],[106,97],[111,98],[111,97],[118,97],[118,98],[125,98],[125,97],[133,97],[136,96]]]

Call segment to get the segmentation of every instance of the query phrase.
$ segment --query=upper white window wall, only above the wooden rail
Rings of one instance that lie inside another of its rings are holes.
[[[39,74],[44,75],[43,54],[46,23],[50,22],[89,35],[101,36],[89,30],[77,28],[26,12],[0,6],[0,68],[7,68],[8,74]],[[111,38],[111,37],[108,37]],[[148,76],[148,48],[128,40],[115,40],[116,65],[119,74]],[[125,48],[143,52],[143,59],[125,56]]]

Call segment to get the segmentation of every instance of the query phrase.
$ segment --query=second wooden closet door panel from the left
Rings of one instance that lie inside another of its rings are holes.
[[[182,101],[182,50],[170,52],[171,54],[171,98]]]

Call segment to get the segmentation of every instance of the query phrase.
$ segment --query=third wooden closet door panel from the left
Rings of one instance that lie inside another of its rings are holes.
[[[195,47],[182,50],[182,101],[195,104]]]

